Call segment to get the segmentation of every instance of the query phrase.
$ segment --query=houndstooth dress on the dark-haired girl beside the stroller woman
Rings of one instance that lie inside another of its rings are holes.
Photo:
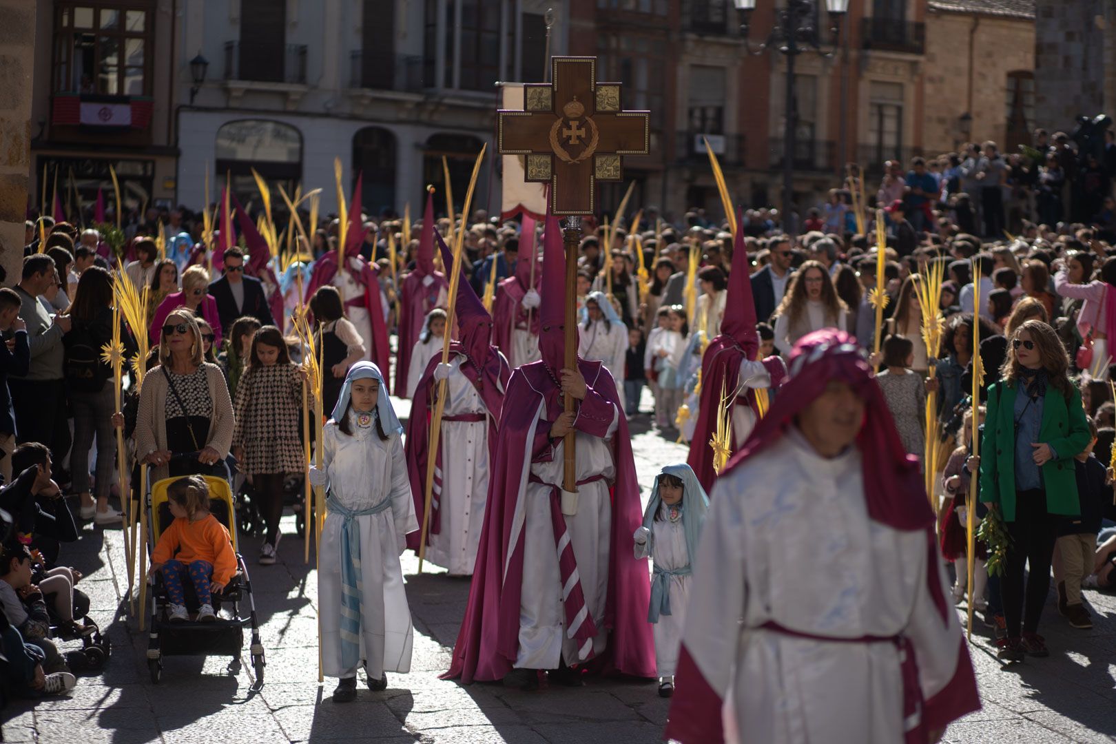
[[[302,379],[297,366],[277,364],[244,370],[234,409],[232,446],[244,448],[241,472],[302,472]]]

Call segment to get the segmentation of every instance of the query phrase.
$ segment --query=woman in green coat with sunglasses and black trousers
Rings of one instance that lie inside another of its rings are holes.
[[[1074,457],[1091,435],[1068,369],[1054,328],[1028,320],[1012,334],[1002,379],[988,392],[980,490],[1011,538],[1000,583],[1008,636],[997,641],[999,657],[1008,661],[1049,656],[1037,630],[1050,589],[1056,528],[1059,516],[1080,514]]]

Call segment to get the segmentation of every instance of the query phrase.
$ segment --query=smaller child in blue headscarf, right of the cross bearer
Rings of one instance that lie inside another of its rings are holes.
[[[651,606],[647,621],[655,626],[658,694],[674,694],[674,670],[682,642],[682,624],[690,595],[691,562],[709,496],[689,465],[666,465],[655,476],[651,501],[636,528],[635,557],[651,557]]]

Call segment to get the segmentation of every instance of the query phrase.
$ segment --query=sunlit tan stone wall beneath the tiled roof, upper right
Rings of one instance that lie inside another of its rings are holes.
[[[1003,147],[1008,123],[1008,74],[1032,69],[1033,20],[955,12],[927,13],[923,149],[929,155],[952,152],[968,139],[993,139]],[[968,136],[960,126],[965,112],[972,116]]]

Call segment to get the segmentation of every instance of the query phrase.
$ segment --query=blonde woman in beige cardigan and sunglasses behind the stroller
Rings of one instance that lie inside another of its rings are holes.
[[[205,465],[232,446],[233,414],[224,375],[204,360],[192,313],[172,311],[160,329],[158,366],[144,377],[136,417],[136,454],[167,477],[172,454],[198,452]]]

